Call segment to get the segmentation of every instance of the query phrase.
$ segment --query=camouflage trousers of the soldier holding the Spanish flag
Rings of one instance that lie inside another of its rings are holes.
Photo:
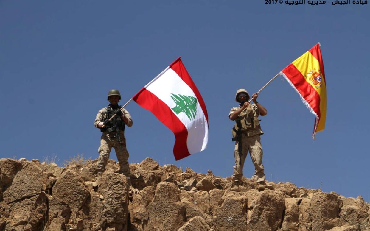
[[[234,174],[233,180],[242,181],[243,176],[243,167],[245,158],[247,157],[248,151],[250,154],[250,158],[255,166],[255,174],[254,178],[257,182],[265,181],[265,173],[263,173],[264,167],[262,164],[262,145],[261,145],[261,137],[259,135],[256,136],[243,136],[241,140],[242,145],[242,153],[239,153],[239,142],[235,142],[235,150],[234,150],[234,157],[235,157],[235,166],[234,166]]]

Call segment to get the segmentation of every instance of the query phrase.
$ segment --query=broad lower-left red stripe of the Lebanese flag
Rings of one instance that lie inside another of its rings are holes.
[[[167,126],[175,135],[174,156],[175,160],[180,160],[190,156],[186,140],[188,139],[188,130],[179,118],[172,112],[163,101],[156,95],[142,88],[132,99],[143,108],[149,110]]]

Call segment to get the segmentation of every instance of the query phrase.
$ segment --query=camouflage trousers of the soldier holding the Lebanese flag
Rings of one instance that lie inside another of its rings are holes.
[[[129,154],[126,149],[126,139],[124,132],[121,131],[121,143],[115,138],[115,132],[104,132],[101,136],[100,147],[98,149],[99,158],[96,165],[97,171],[104,171],[109,154],[111,153],[112,147],[114,147],[117,155],[118,162],[120,163],[120,173],[129,174],[130,167],[128,164]]]

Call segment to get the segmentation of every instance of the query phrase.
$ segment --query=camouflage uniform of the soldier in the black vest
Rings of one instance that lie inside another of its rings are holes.
[[[126,124],[128,127],[132,126],[132,119],[128,111],[124,108],[121,109],[122,115],[128,119],[128,123]],[[94,126],[97,128],[98,123],[104,122],[107,118],[107,108],[102,108],[98,114],[96,115],[96,119],[94,122]],[[126,139],[125,139],[125,132],[120,130],[121,135],[121,143],[118,142],[117,138],[115,138],[115,132],[103,132],[100,140],[100,147],[98,149],[99,152],[99,159],[97,163],[97,171],[104,171],[105,165],[107,164],[107,160],[109,159],[109,154],[111,152],[112,147],[117,154],[118,162],[120,163],[120,172],[122,174],[129,174],[130,168],[128,164],[128,157],[129,154],[126,149]]]

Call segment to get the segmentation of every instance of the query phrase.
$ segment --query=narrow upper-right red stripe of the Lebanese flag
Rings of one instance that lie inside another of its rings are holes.
[[[176,61],[171,64],[172,65],[170,66],[171,69],[174,70],[176,74],[178,74],[178,76],[182,79],[182,81],[184,81],[192,89],[196,98],[198,99],[199,105],[201,105],[202,111],[206,117],[207,124],[208,124],[208,113],[207,113],[206,105],[203,101],[202,95],[199,93],[198,88],[196,88],[188,71],[186,71],[186,68],[184,64],[182,63],[182,61],[180,60],[180,57]]]

